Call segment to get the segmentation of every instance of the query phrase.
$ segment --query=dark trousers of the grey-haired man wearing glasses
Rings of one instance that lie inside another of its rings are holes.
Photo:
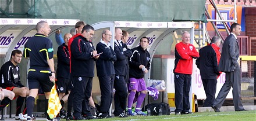
[[[99,76],[99,87],[101,88],[101,107],[99,112],[108,113],[113,98],[113,84],[115,75]]]

